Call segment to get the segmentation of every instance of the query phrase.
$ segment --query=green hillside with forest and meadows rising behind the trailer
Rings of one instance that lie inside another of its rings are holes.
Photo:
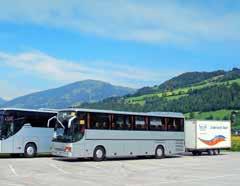
[[[84,108],[182,112],[189,118],[229,119],[240,110],[240,69],[188,72],[135,94],[84,103]]]

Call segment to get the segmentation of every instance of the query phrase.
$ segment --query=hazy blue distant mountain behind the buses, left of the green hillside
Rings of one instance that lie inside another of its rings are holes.
[[[96,102],[134,92],[134,89],[127,87],[114,86],[102,81],[84,80],[18,97],[3,104],[3,107],[66,108],[82,102]]]

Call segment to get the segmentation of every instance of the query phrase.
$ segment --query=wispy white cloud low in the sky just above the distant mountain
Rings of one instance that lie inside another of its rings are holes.
[[[176,75],[176,71],[174,70],[169,72],[165,69],[142,69],[108,61],[70,61],[58,59],[39,51],[19,54],[0,51],[0,61],[2,65],[17,69],[19,76],[24,72],[29,74],[30,78],[37,77],[45,80],[53,80],[59,84],[85,79],[96,79],[118,85],[140,87],[160,83]]]

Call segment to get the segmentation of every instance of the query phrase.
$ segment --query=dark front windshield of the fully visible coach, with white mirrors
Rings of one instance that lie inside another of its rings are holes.
[[[82,139],[85,129],[84,116],[84,113],[59,112],[54,128],[53,141],[74,143]]]

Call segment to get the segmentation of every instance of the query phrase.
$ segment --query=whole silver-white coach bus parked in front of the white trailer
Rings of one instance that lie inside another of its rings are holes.
[[[184,116],[92,109],[58,112],[52,154],[69,158],[155,156],[183,153]]]

